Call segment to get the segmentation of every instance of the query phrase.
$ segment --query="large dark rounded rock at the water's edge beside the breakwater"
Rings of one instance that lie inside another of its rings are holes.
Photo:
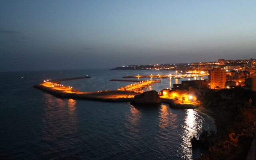
[[[131,100],[134,104],[160,104],[161,99],[158,92],[155,90],[143,92],[142,94],[134,96]]]

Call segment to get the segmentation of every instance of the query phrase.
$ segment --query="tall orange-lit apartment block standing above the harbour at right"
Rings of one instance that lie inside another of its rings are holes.
[[[209,79],[211,89],[225,88],[226,70],[222,70],[221,68],[209,70]]]

